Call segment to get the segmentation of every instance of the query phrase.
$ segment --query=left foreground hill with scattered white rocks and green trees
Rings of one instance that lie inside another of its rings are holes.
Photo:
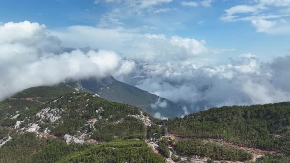
[[[5,118],[0,124],[3,163],[164,162],[144,141],[148,115],[97,94],[68,93],[14,114],[15,123]]]

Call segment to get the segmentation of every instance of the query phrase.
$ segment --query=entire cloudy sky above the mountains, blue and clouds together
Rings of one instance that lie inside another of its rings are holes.
[[[1,0],[0,99],[113,75],[191,112],[289,101],[289,42],[290,0]]]

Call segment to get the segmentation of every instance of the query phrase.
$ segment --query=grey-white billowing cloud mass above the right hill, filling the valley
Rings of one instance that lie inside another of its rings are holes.
[[[122,80],[183,103],[188,112],[194,112],[224,105],[289,101],[289,63],[289,56],[263,63],[253,54],[215,66],[191,61],[136,62],[136,69]]]

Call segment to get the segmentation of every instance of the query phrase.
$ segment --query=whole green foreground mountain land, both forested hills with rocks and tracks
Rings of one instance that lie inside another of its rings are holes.
[[[1,163],[290,162],[290,102],[161,120],[62,83],[0,106]]]

